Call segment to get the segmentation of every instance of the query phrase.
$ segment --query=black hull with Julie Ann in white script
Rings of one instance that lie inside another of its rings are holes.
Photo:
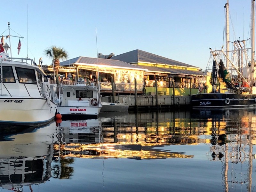
[[[193,109],[256,108],[256,94],[203,93],[191,95]]]

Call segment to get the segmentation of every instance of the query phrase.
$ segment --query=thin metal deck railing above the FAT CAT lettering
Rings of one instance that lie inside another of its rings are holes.
[[[3,81],[4,80],[4,81]],[[3,84],[4,88],[6,89],[6,91],[8,92],[8,94],[12,97],[12,94],[10,92],[10,90],[8,90],[8,88],[6,87],[5,84],[9,84],[9,83],[14,83],[15,81],[18,81],[20,84],[23,84],[25,89],[26,89],[26,92],[28,93],[28,96],[31,97],[29,91],[28,91],[28,88],[26,86],[26,84],[28,83],[28,80],[27,79],[14,79],[14,78],[0,78],[0,83]],[[37,86],[37,90],[40,94],[41,97],[43,97],[43,94],[42,94],[42,82],[37,82],[37,81],[33,81],[33,80],[29,80],[29,83],[28,84],[35,84]],[[1,89],[1,87],[0,87]],[[34,91],[34,89],[33,89]],[[50,91],[50,88],[47,86],[47,92],[49,92],[49,95],[51,95],[51,91]],[[1,90],[1,92],[3,93],[3,90]]]

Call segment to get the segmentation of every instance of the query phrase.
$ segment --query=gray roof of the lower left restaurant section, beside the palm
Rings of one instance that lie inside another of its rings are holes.
[[[98,58],[91,58],[91,57],[76,57],[74,59],[66,60],[60,62],[60,66],[70,66],[72,67],[73,64],[75,65],[91,65],[91,66],[108,66],[112,68],[125,68],[125,69],[135,69],[135,70],[146,70],[138,65],[132,65],[130,63],[126,63],[124,61],[119,60],[110,60],[110,59],[98,59]]]

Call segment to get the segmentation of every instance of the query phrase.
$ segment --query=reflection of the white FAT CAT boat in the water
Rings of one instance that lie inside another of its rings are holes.
[[[19,132],[17,132],[19,133]],[[0,142],[0,186],[25,191],[51,177],[53,143],[57,140],[55,123],[33,132],[9,135]]]

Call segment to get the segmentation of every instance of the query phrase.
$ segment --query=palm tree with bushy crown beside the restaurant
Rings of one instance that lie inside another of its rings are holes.
[[[55,79],[57,81],[57,84],[59,84],[60,82],[58,78],[58,69],[60,67],[60,60],[67,59],[68,52],[65,51],[63,48],[52,46],[50,48],[45,49],[44,54],[53,60],[52,64],[55,70]]]

